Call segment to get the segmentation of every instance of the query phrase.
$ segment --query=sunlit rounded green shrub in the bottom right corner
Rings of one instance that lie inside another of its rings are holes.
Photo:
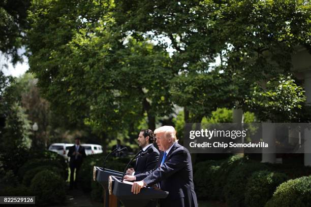
[[[289,180],[279,185],[265,207],[311,206],[311,176]]]

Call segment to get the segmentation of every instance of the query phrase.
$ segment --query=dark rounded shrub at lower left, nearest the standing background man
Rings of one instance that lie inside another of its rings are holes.
[[[36,195],[36,203],[41,205],[64,203],[65,181],[50,170],[43,170],[33,178],[30,190]]]

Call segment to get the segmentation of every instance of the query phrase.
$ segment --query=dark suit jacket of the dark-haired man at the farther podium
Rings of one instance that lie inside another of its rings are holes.
[[[135,174],[141,174],[146,171],[150,171],[155,167],[159,160],[159,150],[155,148],[153,145],[149,146],[146,150],[152,149],[152,153],[148,153],[142,157],[137,158],[136,164],[134,166]]]

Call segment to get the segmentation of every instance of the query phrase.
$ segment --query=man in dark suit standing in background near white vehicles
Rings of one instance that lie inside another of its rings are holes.
[[[85,149],[80,145],[79,137],[75,138],[75,145],[69,148],[68,157],[70,157],[70,189],[77,188],[77,178],[83,158],[86,157]],[[74,171],[76,169],[76,180],[74,181]]]

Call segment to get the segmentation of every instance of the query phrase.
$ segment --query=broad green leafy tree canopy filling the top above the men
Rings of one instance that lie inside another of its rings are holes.
[[[259,109],[266,93],[256,91],[291,75],[297,45],[309,48],[309,10],[293,0],[34,0],[30,72],[54,110],[98,131],[144,116],[154,129],[174,104],[186,122],[201,122],[217,108]],[[292,102],[282,101],[287,94],[272,99],[299,111],[301,88],[288,84]],[[258,115],[270,112],[261,107]]]

